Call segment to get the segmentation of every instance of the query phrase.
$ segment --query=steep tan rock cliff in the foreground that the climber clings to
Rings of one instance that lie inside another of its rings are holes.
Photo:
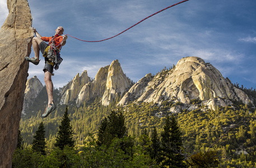
[[[0,167],[11,167],[17,145],[31,52],[32,17],[26,0],[7,0],[9,15],[0,30]]]

